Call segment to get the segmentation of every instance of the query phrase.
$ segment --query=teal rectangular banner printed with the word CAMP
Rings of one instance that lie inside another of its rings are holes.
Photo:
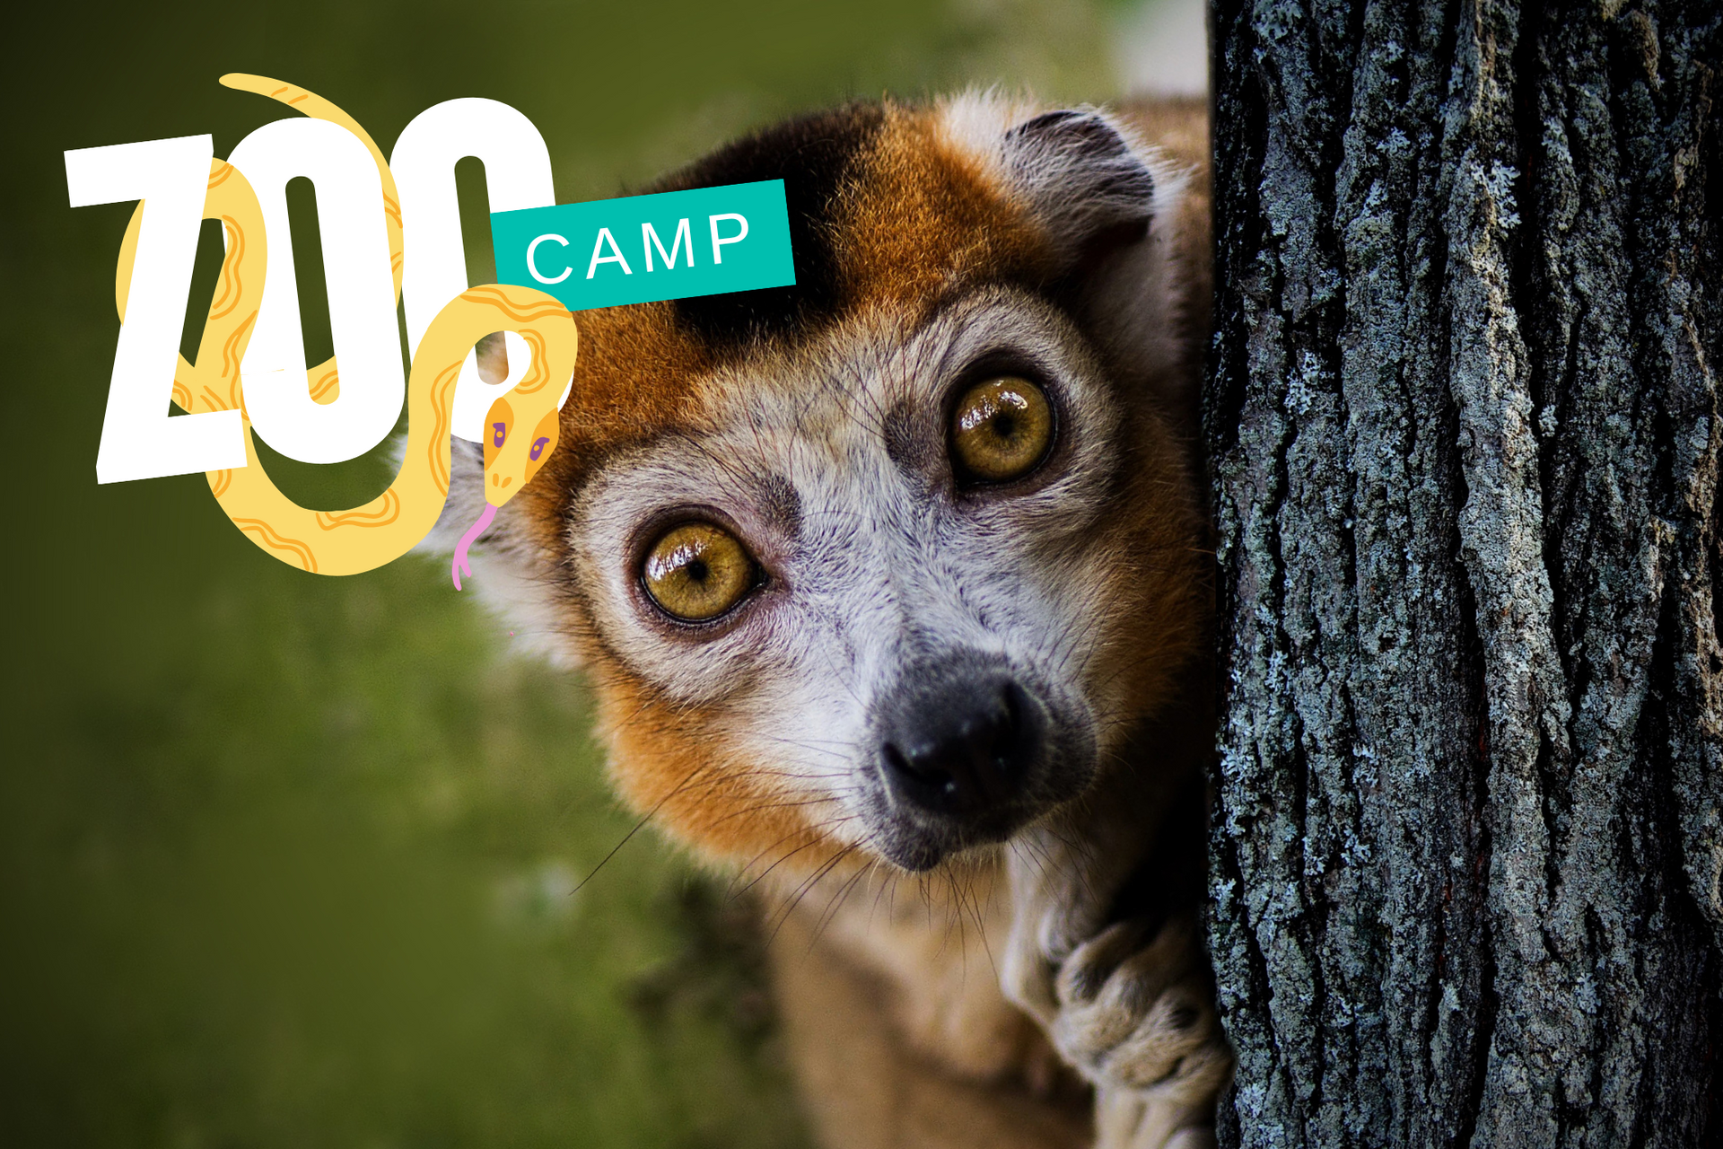
[[[491,243],[570,312],[796,283],[782,179],[493,212]]]

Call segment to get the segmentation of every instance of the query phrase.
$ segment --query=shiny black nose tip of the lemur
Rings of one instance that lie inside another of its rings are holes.
[[[882,748],[893,789],[955,817],[1010,804],[1036,755],[1032,706],[1011,680],[925,694]]]

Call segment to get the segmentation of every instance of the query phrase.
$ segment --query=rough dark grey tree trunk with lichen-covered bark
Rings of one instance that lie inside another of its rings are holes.
[[[1211,31],[1222,1142],[1723,1144],[1723,5]]]

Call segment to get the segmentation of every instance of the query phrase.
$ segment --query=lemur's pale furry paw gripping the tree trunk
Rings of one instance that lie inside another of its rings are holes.
[[[1197,911],[1201,789],[1120,779],[1073,823],[1008,856],[1006,997],[1096,1087],[1101,1149],[1213,1140],[1232,1049],[1215,1011]]]

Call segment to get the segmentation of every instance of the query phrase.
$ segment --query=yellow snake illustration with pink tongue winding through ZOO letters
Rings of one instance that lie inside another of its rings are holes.
[[[262,76],[222,76],[229,88],[255,91],[310,117],[346,127],[358,136],[383,176],[383,203],[395,267],[395,295],[401,291],[401,214],[389,167],[370,136],[327,100]],[[179,357],[174,403],[186,412],[234,410],[245,415],[239,362],[257,324],[264,289],[267,245],[264,214],[252,184],[226,160],[210,164],[203,219],[219,219],[227,234],[221,281],[210,301],[196,363]],[[138,252],[143,203],[121,241],[114,303],[126,320],[126,296]],[[451,562],[455,589],[472,574],[467,548],[491,524],[496,508],[532,481],[557,450],[557,401],[574,374],[579,334],[574,315],[543,291],[513,284],[469,288],[455,296],[426,329],[407,377],[407,451],[389,489],[362,506],[326,512],[300,506],[269,479],[245,419],[246,465],[207,472],[215,501],[239,531],[284,563],[314,574],[360,574],[400,558],[436,525],[450,482],[450,412],[455,382],[472,345],[493,331],[519,332],[532,351],[526,377],[496,400],[484,419],[484,513],[462,537]],[[307,388],[319,403],[334,401],[339,376],[334,358],[307,372]],[[517,434],[531,427],[531,434]]]

